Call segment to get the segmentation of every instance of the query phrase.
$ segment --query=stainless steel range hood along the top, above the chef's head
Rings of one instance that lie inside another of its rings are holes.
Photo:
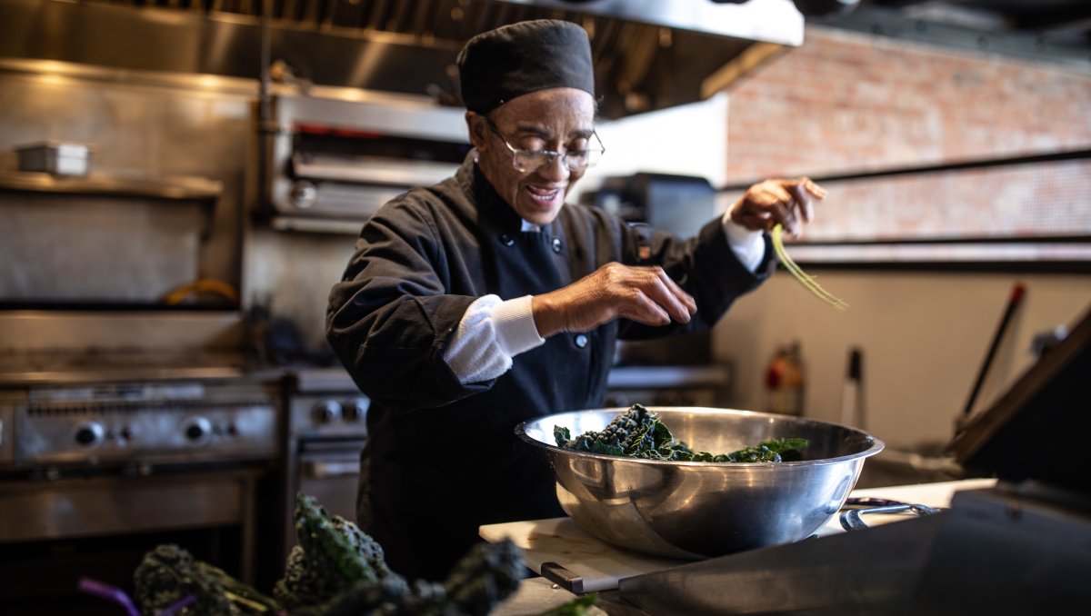
[[[0,0],[0,59],[259,78],[267,27],[285,80],[456,105],[461,45],[540,17],[591,36],[607,118],[705,99],[803,41],[791,0]]]

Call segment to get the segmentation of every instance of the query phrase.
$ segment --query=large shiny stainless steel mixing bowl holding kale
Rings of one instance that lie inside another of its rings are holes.
[[[810,536],[844,504],[878,438],[816,420],[690,407],[649,407],[694,450],[727,454],[771,438],[810,440],[799,462],[668,462],[584,454],[556,446],[599,431],[626,409],[546,415],[515,428],[556,476],[561,506],[590,534],[623,548],[674,558],[722,556]]]

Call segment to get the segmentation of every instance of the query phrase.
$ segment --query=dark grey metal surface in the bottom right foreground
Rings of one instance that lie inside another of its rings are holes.
[[[1091,524],[1042,496],[958,492],[946,511],[623,579],[620,595],[657,616],[1086,613]]]

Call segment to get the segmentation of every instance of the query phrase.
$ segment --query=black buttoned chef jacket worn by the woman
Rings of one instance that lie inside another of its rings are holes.
[[[769,270],[768,240],[767,263],[752,274],[719,218],[682,241],[568,204],[540,232],[520,229],[467,157],[453,178],[380,208],[331,292],[328,340],[371,398],[358,521],[391,568],[410,578],[444,579],[481,524],[564,515],[549,469],[516,440],[516,424],[601,407],[618,338],[707,329]],[[458,382],[443,353],[471,302],[553,291],[610,262],[661,265],[694,295],[697,316],[559,334],[497,378]]]

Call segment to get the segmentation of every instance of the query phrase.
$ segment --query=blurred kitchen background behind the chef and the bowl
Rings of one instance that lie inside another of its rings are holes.
[[[268,587],[296,491],[351,516],[329,287],[467,152],[461,44],[543,16],[597,61],[576,198],[690,233],[811,176],[788,250],[851,304],[779,273],[709,336],[622,346],[612,403],[849,423],[888,447],[862,484],[957,476],[958,422],[1091,306],[1080,0],[0,0],[4,603],[166,541]]]

